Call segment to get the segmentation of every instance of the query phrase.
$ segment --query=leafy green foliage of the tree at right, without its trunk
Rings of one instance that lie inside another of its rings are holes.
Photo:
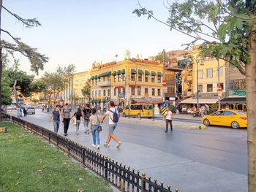
[[[165,23],[155,18],[151,10],[139,6],[133,13],[139,17],[148,15],[148,18]],[[219,0],[187,0],[168,4],[167,9],[170,17],[165,25],[170,30],[194,38],[187,44],[187,49],[203,42],[200,46],[202,57],[213,55],[217,59],[222,58],[245,74],[245,65],[249,63],[248,37],[256,28],[255,3],[243,0],[224,3]]]

